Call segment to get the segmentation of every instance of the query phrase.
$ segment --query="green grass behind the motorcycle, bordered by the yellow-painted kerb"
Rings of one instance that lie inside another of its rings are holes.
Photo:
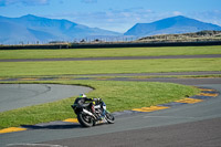
[[[34,83],[75,84],[94,87],[95,90],[90,92],[87,96],[102,97],[110,112],[169,103],[183,98],[187,95],[191,96],[199,93],[199,90],[196,87],[171,83],[114,81],[53,81]],[[53,103],[0,113],[0,128],[76,117],[71,108],[71,104],[73,104],[74,99],[75,97],[70,97]]]

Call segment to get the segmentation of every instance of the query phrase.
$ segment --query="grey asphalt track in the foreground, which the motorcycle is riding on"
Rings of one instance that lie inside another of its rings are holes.
[[[221,93],[221,84],[200,78],[200,86]],[[190,85],[194,83],[190,82]],[[114,147],[114,146],[220,146],[221,96],[197,104],[175,106],[151,113],[116,117],[113,125],[82,128],[78,124],[45,124],[25,132],[0,135],[0,146],[11,147]]]

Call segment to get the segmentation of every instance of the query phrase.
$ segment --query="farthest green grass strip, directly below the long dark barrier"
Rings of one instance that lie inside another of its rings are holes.
[[[98,56],[159,56],[221,54],[221,46],[168,46],[116,49],[62,49],[62,50],[0,50],[0,59],[56,59]]]

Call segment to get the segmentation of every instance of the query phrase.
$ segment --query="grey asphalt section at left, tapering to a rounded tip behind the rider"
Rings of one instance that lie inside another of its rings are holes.
[[[90,91],[90,87],[59,84],[0,84],[0,112],[77,96]]]

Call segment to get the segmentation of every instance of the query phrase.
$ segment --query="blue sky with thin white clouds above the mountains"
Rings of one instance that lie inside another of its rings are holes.
[[[0,0],[0,15],[25,14],[117,32],[180,14],[221,25],[221,0]]]

